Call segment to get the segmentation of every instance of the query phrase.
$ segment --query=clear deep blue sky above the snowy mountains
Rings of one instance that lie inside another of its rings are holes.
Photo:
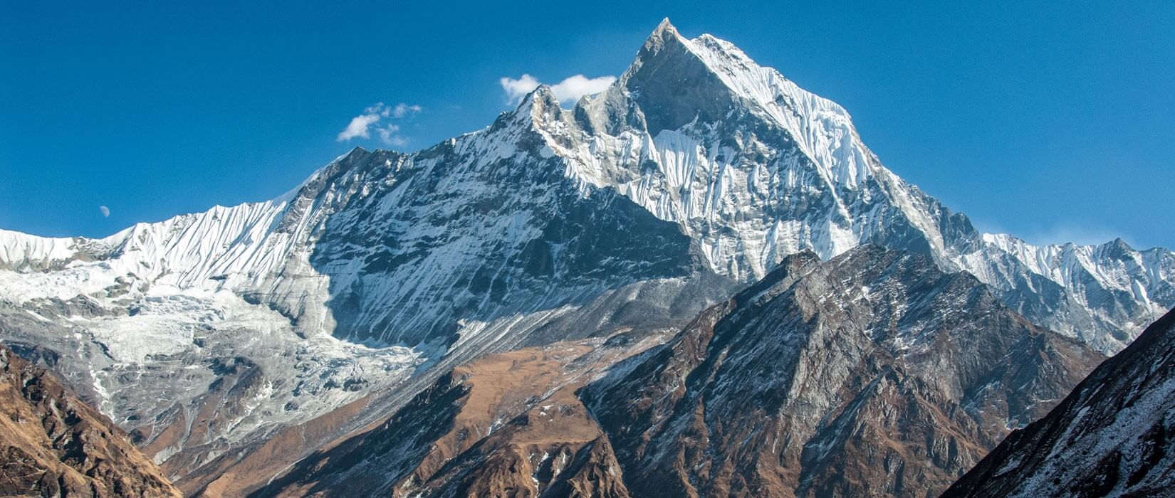
[[[90,4],[0,5],[0,228],[270,198],[489,124],[503,78],[618,75],[669,16],[841,103],[981,229],[1175,247],[1175,2]]]

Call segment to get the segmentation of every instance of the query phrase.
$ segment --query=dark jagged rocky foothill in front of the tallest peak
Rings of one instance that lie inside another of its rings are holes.
[[[788,257],[583,398],[633,496],[927,496],[1103,357],[967,274]]]

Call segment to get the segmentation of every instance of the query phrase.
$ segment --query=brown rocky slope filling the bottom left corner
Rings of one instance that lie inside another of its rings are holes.
[[[179,497],[126,432],[0,345],[0,496]]]

